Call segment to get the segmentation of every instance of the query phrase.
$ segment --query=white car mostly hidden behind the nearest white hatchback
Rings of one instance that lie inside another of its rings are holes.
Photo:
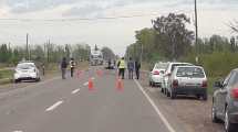
[[[165,74],[163,76],[163,81],[162,81],[162,92],[164,92],[165,95],[169,96],[169,92],[167,92],[168,90],[168,79],[172,75],[172,72],[175,69],[176,66],[193,66],[193,64],[189,63],[169,63]]]

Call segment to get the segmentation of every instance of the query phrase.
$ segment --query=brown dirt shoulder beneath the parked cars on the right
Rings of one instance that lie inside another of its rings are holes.
[[[183,125],[187,132],[224,132],[223,124],[211,122],[211,98],[208,101],[194,97],[178,97],[170,100],[161,92],[159,88],[149,87],[147,78],[147,74],[143,73],[139,82],[168,121],[178,120],[179,125]]]

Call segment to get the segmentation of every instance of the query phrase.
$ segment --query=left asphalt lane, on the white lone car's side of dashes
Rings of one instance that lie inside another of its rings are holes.
[[[46,108],[60,100],[66,100],[73,90],[82,87],[87,78],[56,79],[32,86],[24,92],[14,95],[0,102],[0,130],[13,131],[44,116]]]

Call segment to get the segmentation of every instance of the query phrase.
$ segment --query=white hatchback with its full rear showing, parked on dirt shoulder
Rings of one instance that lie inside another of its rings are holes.
[[[207,100],[207,77],[200,66],[177,66],[168,80],[168,94],[172,99],[177,95],[203,97]]]

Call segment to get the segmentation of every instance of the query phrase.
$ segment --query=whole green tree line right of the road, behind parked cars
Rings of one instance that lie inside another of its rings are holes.
[[[152,20],[152,28],[135,32],[135,43],[126,48],[126,56],[141,58],[143,62],[179,61],[187,56],[199,56],[215,52],[238,52],[238,37],[213,35],[198,38],[195,43],[194,31],[187,29],[190,19],[185,14],[169,13]],[[238,24],[238,23],[237,23]],[[231,30],[237,32],[238,25]]]

